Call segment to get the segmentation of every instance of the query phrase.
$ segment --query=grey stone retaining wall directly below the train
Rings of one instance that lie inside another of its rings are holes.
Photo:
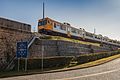
[[[44,57],[77,56],[86,53],[110,51],[110,48],[85,45],[61,40],[36,39],[29,49],[29,58],[40,58],[44,46]]]

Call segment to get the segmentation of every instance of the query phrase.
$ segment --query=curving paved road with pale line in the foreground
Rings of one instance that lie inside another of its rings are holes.
[[[3,78],[0,80],[120,80],[120,58],[85,69]]]

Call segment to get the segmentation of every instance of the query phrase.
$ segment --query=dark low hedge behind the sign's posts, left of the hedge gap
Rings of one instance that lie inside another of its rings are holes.
[[[53,57],[53,58],[45,58],[43,59],[44,62],[44,68],[58,68],[58,67],[65,67],[67,65],[70,64],[72,57]],[[41,63],[42,63],[42,59],[28,59],[28,67],[27,69],[31,70],[31,69],[41,69]],[[17,69],[17,64],[18,61],[15,61],[15,68]],[[24,65],[25,65],[25,60],[21,59],[20,60],[20,70],[24,69]]]

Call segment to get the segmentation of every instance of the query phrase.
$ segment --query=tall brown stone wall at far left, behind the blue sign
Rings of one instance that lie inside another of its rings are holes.
[[[31,25],[0,18],[0,69],[15,56],[16,43],[29,41],[31,37]]]

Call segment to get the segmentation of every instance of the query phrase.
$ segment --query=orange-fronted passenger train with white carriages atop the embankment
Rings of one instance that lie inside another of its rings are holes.
[[[83,28],[77,29],[72,27],[69,23],[61,23],[48,17],[38,20],[38,32],[41,34],[62,36],[82,41],[120,47],[120,41],[118,40],[110,39],[101,34],[97,35],[95,33],[88,32]]]

